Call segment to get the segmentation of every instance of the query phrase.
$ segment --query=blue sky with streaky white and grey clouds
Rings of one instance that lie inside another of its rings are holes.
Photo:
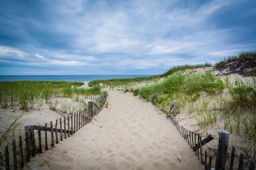
[[[0,0],[0,75],[161,74],[256,49],[256,0]]]

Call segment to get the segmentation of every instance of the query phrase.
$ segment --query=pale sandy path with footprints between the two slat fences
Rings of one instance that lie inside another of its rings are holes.
[[[151,103],[131,93],[109,93],[108,109],[74,136],[32,158],[28,165],[41,170],[204,168],[172,123]]]

